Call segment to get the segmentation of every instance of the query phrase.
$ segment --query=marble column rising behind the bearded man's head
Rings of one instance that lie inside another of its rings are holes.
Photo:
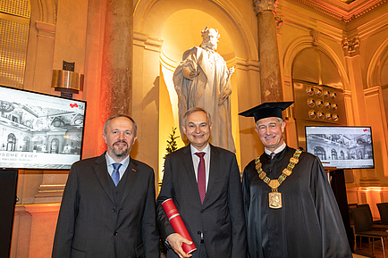
[[[132,13],[132,0],[106,1],[99,128],[116,113],[131,115]]]

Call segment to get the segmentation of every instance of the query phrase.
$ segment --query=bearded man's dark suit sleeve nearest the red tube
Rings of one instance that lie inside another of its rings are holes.
[[[153,258],[159,256],[159,232],[156,225],[155,207],[155,174],[151,169],[148,179],[148,195],[146,200],[143,220],[141,222],[142,237],[146,257]]]

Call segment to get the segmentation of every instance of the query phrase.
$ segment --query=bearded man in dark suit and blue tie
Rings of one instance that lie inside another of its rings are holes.
[[[131,117],[115,115],[105,154],[72,164],[52,257],[158,257],[154,171],[131,158],[136,135]]]

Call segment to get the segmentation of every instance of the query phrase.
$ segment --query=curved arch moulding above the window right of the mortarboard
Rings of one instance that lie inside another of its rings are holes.
[[[299,54],[299,52],[303,49],[311,46],[311,37],[308,36],[291,38],[289,40],[288,44],[286,44],[286,47],[284,47],[286,50],[283,54],[283,68],[285,78],[292,77],[292,63],[296,55]],[[340,57],[333,51],[330,46],[325,44],[325,42],[322,40],[318,42],[318,45],[316,47],[318,48],[318,50],[325,53],[333,61],[333,63],[338,68],[338,71],[342,78],[343,89],[349,89],[350,80],[348,78],[346,68],[343,66]]]

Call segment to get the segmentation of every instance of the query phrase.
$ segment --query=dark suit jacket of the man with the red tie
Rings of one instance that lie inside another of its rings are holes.
[[[203,232],[209,258],[246,257],[245,219],[235,154],[210,146],[210,172],[203,204],[199,197],[190,146],[166,156],[163,184],[156,200],[158,226],[164,239],[174,233],[162,207],[168,198],[173,198],[197,248],[200,246],[198,232]],[[168,257],[178,256],[169,251]],[[193,253],[193,258],[196,257],[198,252]]]

